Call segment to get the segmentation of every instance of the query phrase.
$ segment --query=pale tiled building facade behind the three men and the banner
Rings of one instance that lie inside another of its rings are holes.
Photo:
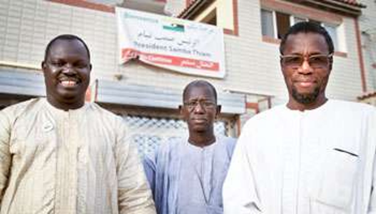
[[[0,0],[0,105],[3,108],[44,96],[40,70],[44,48],[53,37],[69,33],[82,37],[91,50],[93,81],[88,100],[123,115],[139,145],[153,147],[186,133],[177,105],[183,87],[194,79],[212,82],[220,94],[224,114],[216,124],[217,133],[237,136],[247,118],[287,101],[279,66],[279,38],[290,25],[306,20],[320,22],[334,38],[336,52],[327,95],[355,101],[375,90],[375,3],[322,2]],[[137,60],[119,64],[115,6],[223,28],[226,76],[186,75]]]

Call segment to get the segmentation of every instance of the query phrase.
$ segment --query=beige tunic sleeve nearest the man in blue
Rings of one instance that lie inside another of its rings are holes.
[[[135,145],[120,122],[116,145],[118,206],[120,214],[155,214],[154,202]]]

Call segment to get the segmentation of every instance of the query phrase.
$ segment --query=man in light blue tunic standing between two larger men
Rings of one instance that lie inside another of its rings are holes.
[[[144,165],[158,214],[221,214],[222,185],[235,139],[214,135],[217,92],[206,81],[188,84],[180,113],[189,136],[162,144]]]

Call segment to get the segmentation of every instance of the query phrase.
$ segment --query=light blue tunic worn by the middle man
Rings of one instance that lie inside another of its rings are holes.
[[[144,159],[158,214],[222,214],[222,185],[236,139],[197,147],[188,140],[162,144]]]

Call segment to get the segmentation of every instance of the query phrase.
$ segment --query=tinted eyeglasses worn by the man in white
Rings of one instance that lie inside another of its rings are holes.
[[[313,69],[326,67],[332,60],[333,54],[315,54],[309,57],[302,55],[281,55],[280,59],[284,66],[292,69],[298,69],[302,66],[305,58],[308,58],[308,64]]]

